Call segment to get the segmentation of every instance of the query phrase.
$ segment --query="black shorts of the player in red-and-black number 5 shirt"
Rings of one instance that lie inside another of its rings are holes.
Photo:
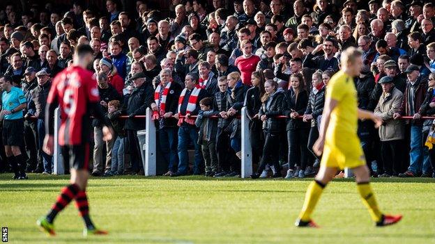
[[[70,165],[70,169],[89,170],[89,143],[82,145],[61,146],[63,164]]]

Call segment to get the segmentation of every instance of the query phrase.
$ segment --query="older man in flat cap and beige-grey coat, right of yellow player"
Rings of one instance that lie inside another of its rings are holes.
[[[383,174],[379,177],[397,176],[402,168],[402,143],[405,128],[402,120],[393,120],[393,115],[399,111],[404,95],[395,88],[394,80],[390,76],[383,76],[379,81],[382,95],[374,109],[374,114],[381,117],[383,124],[379,127],[381,139],[381,156]]]

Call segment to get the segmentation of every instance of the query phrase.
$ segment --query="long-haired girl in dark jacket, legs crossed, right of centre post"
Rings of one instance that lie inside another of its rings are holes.
[[[274,178],[281,177],[280,171],[280,133],[284,127],[284,120],[276,118],[282,115],[284,92],[278,90],[278,83],[273,80],[268,80],[264,84],[266,93],[261,97],[261,108],[259,110],[259,118],[263,122],[263,130],[265,143],[263,147],[263,156],[257,172],[251,175],[252,179],[260,177],[261,172],[266,169],[267,163],[273,164],[275,168]]]

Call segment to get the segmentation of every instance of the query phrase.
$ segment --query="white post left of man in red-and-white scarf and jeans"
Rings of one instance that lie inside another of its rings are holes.
[[[146,135],[145,135],[145,176],[155,176],[155,124],[153,122],[153,112],[146,108]]]

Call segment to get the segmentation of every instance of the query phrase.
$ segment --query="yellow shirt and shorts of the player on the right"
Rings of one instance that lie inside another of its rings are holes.
[[[326,97],[338,101],[326,129],[322,163],[333,168],[356,168],[365,164],[358,138],[358,98],[353,77],[337,72],[328,83]]]

